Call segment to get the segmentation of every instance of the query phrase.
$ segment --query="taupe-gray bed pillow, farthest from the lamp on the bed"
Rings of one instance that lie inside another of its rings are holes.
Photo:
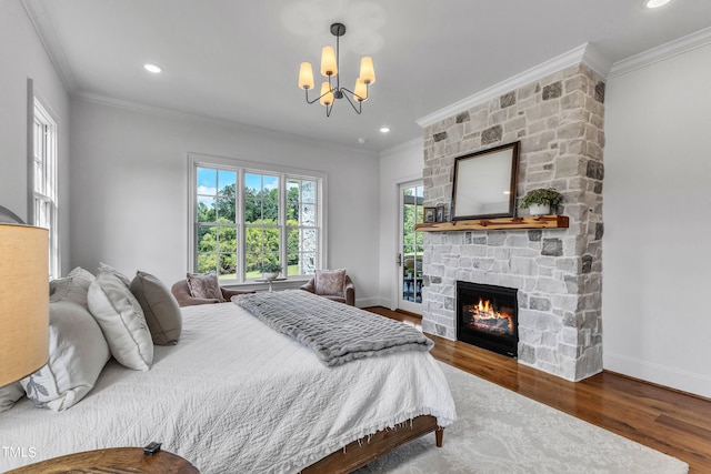
[[[177,344],[182,330],[182,313],[176,296],[156,276],[146,272],[136,272],[129,286],[138,300],[153,344]]]

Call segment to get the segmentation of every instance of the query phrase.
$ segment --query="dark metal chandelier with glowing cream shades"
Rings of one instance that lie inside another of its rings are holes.
[[[321,74],[328,78],[328,81],[321,83],[321,94],[316,99],[309,99],[309,89],[313,89],[313,69],[310,62],[301,63],[299,88],[307,91],[308,103],[314,103],[318,100],[321,105],[326,107],[326,117],[331,115],[336,100],[343,98],[348,100],[356,113],[360,114],[362,103],[368,100],[368,85],[375,82],[373,59],[370,57],[361,58],[360,75],[356,79],[356,87],[352,91],[341,87],[341,79],[338,73],[339,38],[346,34],[346,26],[343,23],[331,24],[331,34],[336,37],[336,52],[333,52],[333,47],[323,47],[321,50]],[[358,107],[356,107],[356,103],[358,103]]]

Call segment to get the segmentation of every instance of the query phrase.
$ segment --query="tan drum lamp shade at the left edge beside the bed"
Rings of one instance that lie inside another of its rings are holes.
[[[0,224],[0,386],[49,359],[49,231]]]

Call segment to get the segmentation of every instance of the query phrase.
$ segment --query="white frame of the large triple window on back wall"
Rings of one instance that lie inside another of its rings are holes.
[[[224,285],[248,285],[254,284],[253,279],[244,278],[246,265],[246,234],[247,223],[244,222],[244,175],[247,173],[268,174],[279,178],[279,229],[280,242],[279,242],[279,256],[281,262],[287,262],[288,259],[288,232],[290,228],[287,225],[287,182],[289,179],[310,180],[317,182],[317,269],[328,268],[327,262],[327,242],[328,230],[327,220],[328,215],[327,202],[328,202],[328,174],[322,171],[306,170],[292,167],[283,167],[270,163],[260,163],[253,161],[238,160],[224,157],[213,157],[199,153],[188,153],[188,271],[196,272],[198,269],[198,252],[197,252],[197,173],[198,168],[212,168],[222,169],[227,171],[237,172],[237,190],[236,195],[238,199],[238,206],[236,209],[236,223],[234,228],[238,235],[238,259],[236,268],[236,279],[220,279],[220,283]],[[224,225],[224,224],[223,224]],[[231,225],[228,225],[231,226]],[[289,276],[289,280],[293,281],[308,281],[312,275],[293,275]]]

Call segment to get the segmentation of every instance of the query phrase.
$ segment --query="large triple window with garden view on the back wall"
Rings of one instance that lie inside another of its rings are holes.
[[[209,159],[209,160],[206,160]],[[277,262],[288,276],[316,273],[323,261],[323,181],[303,170],[191,155],[191,265],[224,281],[261,276]],[[271,167],[264,167],[271,168]]]

